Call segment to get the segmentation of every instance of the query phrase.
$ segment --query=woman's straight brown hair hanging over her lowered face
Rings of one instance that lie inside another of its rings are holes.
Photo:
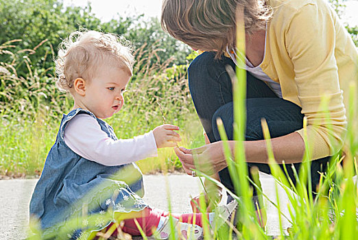
[[[165,0],[160,23],[174,38],[219,58],[235,47],[237,8],[243,8],[246,34],[264,29],[272,12],[261,0]]]

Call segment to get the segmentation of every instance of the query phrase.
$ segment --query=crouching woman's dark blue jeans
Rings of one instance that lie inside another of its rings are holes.
[[[204,52],[191,62],[188,69],[191,97],[211,143],[221,140],[216,125],[218,117],[224,123],[228,139],[233,139],[232,86],[225,66],[230,65],[235,69],[235,63],[225,56],[221,60],[215,60],[214,56],[215,54],[212,52]],[[271,88],[263,81],[250,75],[250,73],[247,73],[246,97],[246,140],[263,139],[262,118],[266,119],[272,138],[283,136],[302,128],[304,115],[301,113],[300,106],[277,97]],[[313,160],[311,163],[313,191],[320,180],[319,172],[326,170],[326,164],[329,159],[330,157],[326,157]],[[270,173],[270,167],[267,164],[248,163],[249,168],[253,166],[258,167],[264,173]],[[283,166],[281,165],[281,167]],[[299,171],[300,163],[294,164],[294,167],[296,171]],[[287,166],[287,171],[289,174],[287,177],[296,183],[291,166]],[[235,178],[235,176],[230,178],[228,168],[219,171],[219,177],[221,182],[235,193],[232,184],[232,178]],[[254,188],[254,200],[257,199],[256,192]]]

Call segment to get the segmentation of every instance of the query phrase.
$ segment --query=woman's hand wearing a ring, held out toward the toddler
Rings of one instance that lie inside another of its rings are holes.
[[[191,169],[198,169],[208,176],[227,167],[222,141],[210,143],[195,149],[175,147],[184,171],[191,175]]]

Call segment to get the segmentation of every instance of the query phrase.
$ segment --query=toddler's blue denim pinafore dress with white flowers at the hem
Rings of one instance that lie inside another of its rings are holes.
[[[29,206],[38,219],[42,239],[86,239],[115,221],[114,213],[141,211],[143,175],[135,163],[105,166],[82,158],[64,143],[64,128],[75,115],[94,117],[111,139],[112,127],[88,110],[63,115],[55,144],[47,155]]]

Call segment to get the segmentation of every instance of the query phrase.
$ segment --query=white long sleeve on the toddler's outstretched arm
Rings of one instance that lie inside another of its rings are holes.
[[[90,115],[76,115],[64,128],[64,143],[76,154],[106,166],[158,156],[152,131],[134,139],[110,139]]]

